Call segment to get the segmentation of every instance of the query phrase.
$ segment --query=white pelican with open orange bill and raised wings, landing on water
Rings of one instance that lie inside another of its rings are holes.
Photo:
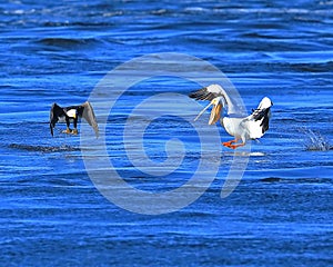
[[[211,85],[189,95],[195,100],[210,100],[211,102],[196,116],[198,120],[203,112],[213,105],[209,125],[215,123],[220,118],[221,125],[225,131],[234,137],[234,140],[222,142],[224,147],[235,149],[242,147],[250,139],[261,138],[269,129],[271,117],[271,107],[273,106],[270,98],[264,97],[252,115],[240,117],[236,115],[234,103],[226,95],[225,90],[219,85]],[[226,107],[226,115],[223,117],[223,108]],[[242,140],[241,144],[238,144]]]

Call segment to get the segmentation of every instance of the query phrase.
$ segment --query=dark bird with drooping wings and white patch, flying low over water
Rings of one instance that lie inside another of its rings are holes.
[[[78,119],[84,118],[88,123],[93,128],[95,137],[99,137],[99,126],[92,109],[92,106],[89,101],[85,101],[79,106],[70,106],[62,108],[57,103],[53,103],[50,110],[50,130],[53,136],[53,128],[59,120],[65,120],[67,129],[62,132],[78,135]],[[70,121],[73,121],[74,129],[69,128]]]

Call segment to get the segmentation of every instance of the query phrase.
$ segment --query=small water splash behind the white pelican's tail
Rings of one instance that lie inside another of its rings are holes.
[[[333,146],[329,142],[329,140],[323,137],[319,131],[313,131],[311,129],[302,129],[305,134],[305,149],[307,151],[327,151],[332,150]]]

